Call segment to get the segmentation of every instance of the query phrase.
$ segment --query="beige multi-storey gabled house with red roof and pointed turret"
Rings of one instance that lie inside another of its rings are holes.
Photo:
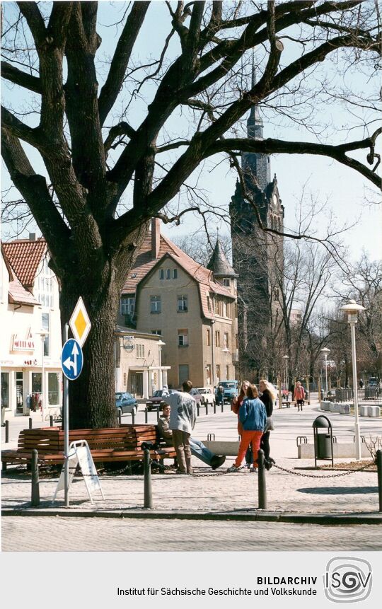
[[[221,252],[218,242],[209,268],[202,267],[154,219],[122,290],[120,323],[162,337],[174,388],[188,379],[203,387],[235,378],[236,274]]]

